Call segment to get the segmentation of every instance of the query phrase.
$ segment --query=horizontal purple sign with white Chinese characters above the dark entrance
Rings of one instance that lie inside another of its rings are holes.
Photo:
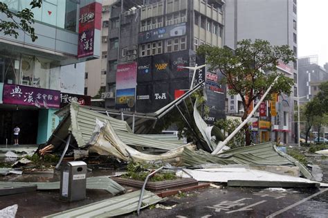
[[[5,84],[3,87],[3,103],[43,108],[60,108],[60,91]]]

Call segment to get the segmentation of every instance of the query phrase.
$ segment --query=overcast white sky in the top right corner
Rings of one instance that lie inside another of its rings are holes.
[[[328,0],[298,0],[298,57],[328,62]]]

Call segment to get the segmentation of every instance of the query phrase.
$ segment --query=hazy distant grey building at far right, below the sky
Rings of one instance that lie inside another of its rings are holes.
[[[328,64],[325,64],[327,66]],[[318,93],[321,82],[328,80],[328,69],[318,65],[318,55],[298,58],[298,83],[304,87],[298,91],[303,102],[309,101]]]

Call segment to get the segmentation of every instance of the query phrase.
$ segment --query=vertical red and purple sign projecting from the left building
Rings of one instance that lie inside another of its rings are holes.
[[[102,4],[90,3],[80,8],[78,58],[93,56],[95,33],[101,29]]]

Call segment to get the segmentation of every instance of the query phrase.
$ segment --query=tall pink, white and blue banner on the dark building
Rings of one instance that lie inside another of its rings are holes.
[[[116,71],[116,109],[134,111],[137,63],[120,64]]]

